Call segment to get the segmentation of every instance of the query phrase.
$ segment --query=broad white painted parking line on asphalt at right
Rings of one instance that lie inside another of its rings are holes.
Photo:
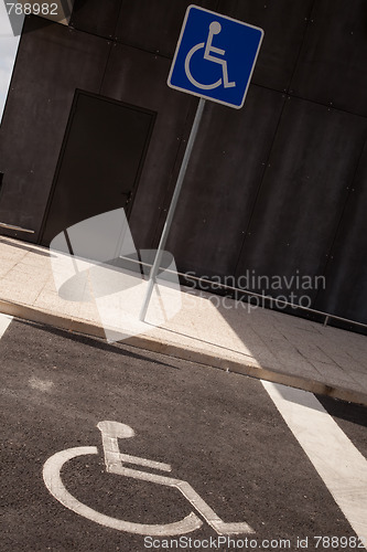
[[[367,460],[312,393],[267,381],[262,385],[365,544]]]

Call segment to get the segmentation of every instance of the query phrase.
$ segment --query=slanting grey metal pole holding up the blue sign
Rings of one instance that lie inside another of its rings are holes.
[[[197,135],[197,130],[198,130],[198,127],[199,127],[199,124],[201,124],[201,120],[202,120],[204,105],[205,105],[205,99],[201,98],[201,100],[198,103],[198,106],[197,106],[197,109],[196,109],[196,115],[195,115],[195,119],[194,119],[194,123],[193,123],[193,127],[192,127],[191,132],[190,132],[190,138],[188,138],[187,147],[186,147],[186,150],[185,150],[185,155],[184,155],[184,158],[182,160],[181,168],[180,168],[180,173],[179,173],[179,177],[177,177],[177,182],[176,182],[176,185],[175,185],[175,189],[174,189],[174,192],[173,192],[173,197],[172,197],[172,200],[171,200],[171,205],[170,205],[170,209],[169,209],[169,212],[168,212],[168,215],[166,215],[166,220],[165,220],[165,223],[164,223],[164,227],[163,227],[163,232],[162,232],[162,235],[161,235],[160,244],[159,244],[158,250],[156,250],[154,263],[153,263],[153,266],[152,266],[152,268],[150,270],[150,274],[149,274],[148,289],[147,289],[147,294],[145,294],[145,297],[144,297],[143,305],[141,307],[140,315],[139,315],[139,320],[142,320],[142,321],[144,321],[145,316],[147,316],[147,310],[148,310],[149,302],[150,302],[150,299],[151,299],[151,296],[152,296],[152,291],[153,291],[153,288],[154,288],[156,274],[158,274],[158,270],[160,268],[161,261],[162,261],[165,242],[166,242],[166,238],[169,236],[169,232],[170,232],[170,229],[171,229],[171,224],[172,224],[172,219],[173,219],[173,215],[174,215],[174,211],[176,209],[176,204],[177,204],[177,201],[179,201],[179,195],[180,195],[180,192],[181,192],[182,183],[183,183],[183,180],[185,178],[185,173],[186,173],[187,164],[188,164],[188,161],[190,161],[190,157],[191,157],[191,153],[192,153],[192,150],[193,150],[193,147],[194,147],[194,142],[195,142],[195,138],[196,138],[196,135]]]

